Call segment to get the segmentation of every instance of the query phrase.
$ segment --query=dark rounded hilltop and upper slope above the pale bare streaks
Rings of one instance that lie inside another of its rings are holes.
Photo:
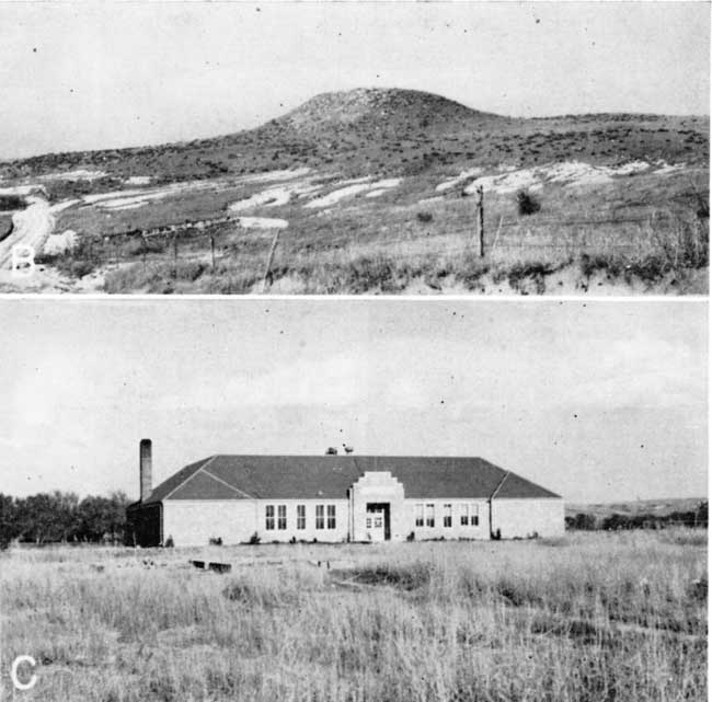
[[[55,197],[124,187],[136,174],[156,185],[294,168],[347,175],[406,175],[455,166],[517,168],[663,159],[705,165],[709,117],[635,114],[512,118],[412,90],[325,93],[260,127],[181,143],[54,153],[0,165],[0,177],[37,177]],[[82,172],[89,174],[83,180]],[[100,177],[99,173],[105,173]]]

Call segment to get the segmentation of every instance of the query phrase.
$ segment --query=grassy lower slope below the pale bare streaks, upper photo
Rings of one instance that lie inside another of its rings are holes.
[[[689,279],[709,257],[708,220],[697,216],[696,196],[705,177],[688,169],[579,187],[550,183],[536,193],[541,209],[530,216],[518,214],[514,193],[490,193],[484,257],[476,253],[474,198],[458,188],[434,197],[445,173],[404,177],[377,198],[356,196],[333,208],[309,209],[294,198],[250,214],[289,223],[271,269],[275,292],[541,294],[602,284],[612,291],[704,292]],[[70,208],[58,228],[78,231],[81,246],[49,263],[72,275],[105,269],[108,292],[260,291],[274,231],[221,222],[188,228],[175,241],[172,233],[142,240],[120,232],[220,217],[261,189],[186,193],[136,210]]]

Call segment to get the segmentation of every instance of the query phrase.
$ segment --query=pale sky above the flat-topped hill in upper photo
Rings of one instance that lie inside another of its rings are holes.
[[[516,116],[709,114],[707,2],[1,3],[0,159],[409,88]]]

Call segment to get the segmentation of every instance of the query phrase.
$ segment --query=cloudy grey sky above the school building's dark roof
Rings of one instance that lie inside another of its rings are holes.
[[[213,453],[481,456],[574,502],[707,493],[707,304],[0,300],[0,492]]]

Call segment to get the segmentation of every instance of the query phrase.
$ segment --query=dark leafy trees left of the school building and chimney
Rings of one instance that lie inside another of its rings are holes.
[[[0,549],[12,541],[45,543],[123,543],[128,497],[103,497],[58,490],[27,497],[0,493]]]

